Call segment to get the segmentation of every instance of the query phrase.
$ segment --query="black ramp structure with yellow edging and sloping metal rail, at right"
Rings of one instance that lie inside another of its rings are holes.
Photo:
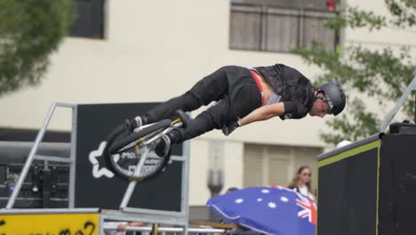
[[[394,126],[388,131],[404,101],[412,101],[412,91],[416,77],[380,124],[379,133],[317,156],[318,235],[414,231],[414,222],[406,218],[412,215],[409,201],[416,194],[414,183],[407,181],[412,174],[407,167],[415,164],[415,125],[396,124],[408,128],[407,133]],[[416,122],[416,93],[414,98]]]

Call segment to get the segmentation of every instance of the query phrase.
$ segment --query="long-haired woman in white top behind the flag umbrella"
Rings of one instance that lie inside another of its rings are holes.
[[[310,167],[300,166],[288,188],[299,192],[300,194],[308,197],[309,199],[315,200],[314,194],[312,192],[311,183],[312,171],[310,170]]]

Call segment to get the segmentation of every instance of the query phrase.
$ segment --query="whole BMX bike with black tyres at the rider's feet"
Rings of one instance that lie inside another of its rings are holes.
[[[166,134],[180,126],[185,127],[188,120],[187,114],[177,111],[172,119],[139,126],[132,131],[125,124],[117,126],[108,134],[103,151],[109,170],[118,177],[140,182],[162,173],[172,153]],[[157,155],[156,146],[162,141],[166,144],[162,154]]]

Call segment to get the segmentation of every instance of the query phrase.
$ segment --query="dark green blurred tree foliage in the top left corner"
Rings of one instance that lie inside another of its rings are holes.
[[[72,1],[0,1],[0,97],[39,84],[72,24]]]

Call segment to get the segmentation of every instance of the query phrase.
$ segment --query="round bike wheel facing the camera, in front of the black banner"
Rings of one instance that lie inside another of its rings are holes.
[[[170,125],[170,120],[168,121]],[[134,141],[137,141],[137,139],[151,134],[152,132],[155,132],[159,129],[166,128],[166,123],[167,122],[163,121],[162,124],[158,125],[158,123],[156,123],[155,125],[153,125],[153,127],[148,126],[147,128],[135,134]],[[114,174],[116,174],[116,176],[130,181],[144,181],[160,174],[164,170],[164,167],[169,162],[171,157],[171,151],[169,150],[169,146],[166,146],[166,154],[161,157],[157,156],[156,153],[153,151],[152,148],[156,146],[160,139],[156,140],[156,142],[152,142],[149,146],[143,146],[143,148],[140,149],[139,145],[135,145],[134,148],[123,150],[121,152],[116,152],[115,154],[110,153],[109,150],[116,143],[131,143],[126,141],[126,138],[130,137],[130,135],[125,131],[123,126],[117,126],[116,129],[114,129],[111,132],[111,134],[108,135],[108,142],[105,150],[103,151],[103,155],[106,159],[108,169],[111,170]],[[123,146],[120,149],[122,148]],[[149,149],[146,150],[146,148]],[[146,153],[144,151],[148,152]],[[140,172],[136,173],[136,166],[138,165],[140,159],[145,157],[144,155],[146,155],[146,159],[143,162],[143,166],[140,168]]]

